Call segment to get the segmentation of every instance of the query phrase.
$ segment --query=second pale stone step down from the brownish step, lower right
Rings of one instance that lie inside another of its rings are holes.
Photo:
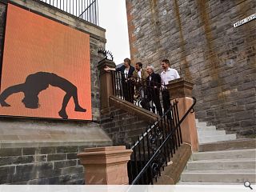
[[[217,159],[188,162],[186,170],[255,170],[255,158]]]

